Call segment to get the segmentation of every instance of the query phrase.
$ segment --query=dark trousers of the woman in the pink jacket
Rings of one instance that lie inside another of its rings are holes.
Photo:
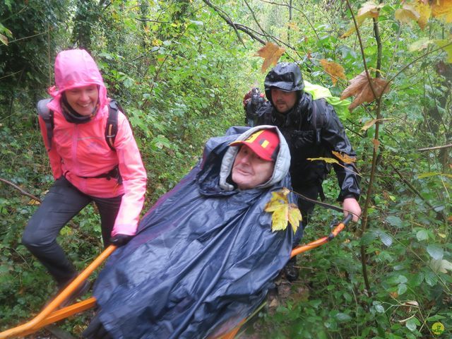
[[[91,201],[95,202],[99,210],[102,239],[107,246],[121,205],[121,196],[88,196],[64,177],[58,179],[50,188],[23,232],[22,243],[49,270],[59,287],[69,283],[77,275],[77,271],[57,244],[57,235],[61,228]]]

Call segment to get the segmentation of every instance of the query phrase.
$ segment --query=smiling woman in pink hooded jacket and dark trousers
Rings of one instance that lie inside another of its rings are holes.
[[[118,112],[114,149],[105,140],[109,98],[88,52],[60,52],[55,60],[55,83],[56,87],[49,88],[53,100],[47,104],[54,114],[51,145],[44,121],[39,119],[55,182],[25,227],[22,242],[62,288],[77,272],[57,244],[61,228],[94,201],[105,246],[125,244],[136,233],[146,172],[122,112]],[[88,287],[85,283],[80,288]]]

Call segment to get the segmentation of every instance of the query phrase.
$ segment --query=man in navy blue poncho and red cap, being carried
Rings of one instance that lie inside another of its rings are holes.
[[[272,232],[263,210],[272,191],[290,188],[289,167],[275,126],[211,138],[198,165],[112,254],[85,337],[208,338],[249,316],[290,258],[291,227]]]

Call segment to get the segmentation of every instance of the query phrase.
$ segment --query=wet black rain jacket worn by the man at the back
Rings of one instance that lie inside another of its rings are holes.
[[[345,135],[334,108],[326,100],[313,100],[309,93],[300,92],[297,105],[285,114],[279,113],[270,102],[258,109],[258,125],[278,126],[290,148],[290,176],[292,187],[300,194],[307,193],[316,198],[321,191],[321,183],[330,171],[330,166],[321,160],[310,161],[314,157],[334,157],[332,150],[355,157],[356,153]],[[337,158],[336,158],[337,159]],[[340,194],[338,201],[354,196],[359,198],[359,179],[353,164],[333,164],[338,177]],[[311,194],[314,188],[314,195]],[[317,188],[317,189],[316,189]],[[322,192],[322,191],[321,191]],[[300,202],[300,200],[299,200]],[[309,208],[313,208],[308,204]],[[304,212],[306,208],[300,206]]]

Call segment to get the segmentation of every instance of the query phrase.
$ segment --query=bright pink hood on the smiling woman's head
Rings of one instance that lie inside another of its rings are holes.
[[[58,102],[65,90],[94,84],[99,86],[100,109],[107,105],[107,88],[99,68],[84,49],[59,52],[55,59],[55,84],[49,88],[49,94]]]

